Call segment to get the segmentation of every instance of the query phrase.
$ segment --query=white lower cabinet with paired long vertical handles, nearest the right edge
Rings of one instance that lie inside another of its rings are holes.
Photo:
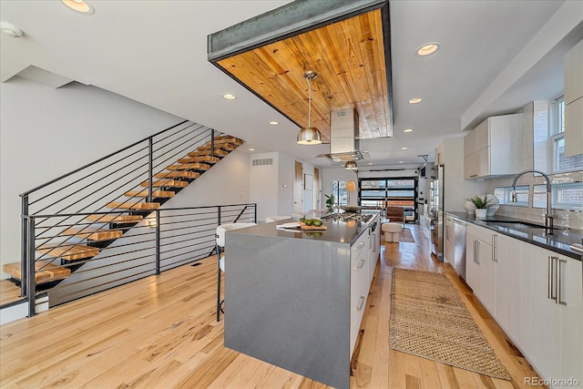
[[[544,378],[583,381],[581,261],[522,242],[520,348]]]

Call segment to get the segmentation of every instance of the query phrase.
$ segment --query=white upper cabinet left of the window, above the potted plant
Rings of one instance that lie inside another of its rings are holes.
[[[522,132],[522,114],[486,118],[464,138],[465,179],[519,173]]]

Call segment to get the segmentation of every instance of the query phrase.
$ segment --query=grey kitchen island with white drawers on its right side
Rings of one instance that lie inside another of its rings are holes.
[[[379,256],[380,218],[372,213],[367,222],[326,220],[322,231],[277,223],[229,231],[225,346],[348,388]]]

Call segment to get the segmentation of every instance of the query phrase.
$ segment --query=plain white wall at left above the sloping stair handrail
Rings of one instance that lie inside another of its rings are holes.
[[[0,95],[2,264],[20,261],[20,193],[182,120],[77,83],[54,89],[15,77]]]

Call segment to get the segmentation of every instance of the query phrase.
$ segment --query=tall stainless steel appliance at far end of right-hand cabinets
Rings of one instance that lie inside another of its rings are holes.
[[[430,181],[431,213],[433,230],[431,230],[431,249],[439,261],[444,261],[444,165],[435,166]]]

